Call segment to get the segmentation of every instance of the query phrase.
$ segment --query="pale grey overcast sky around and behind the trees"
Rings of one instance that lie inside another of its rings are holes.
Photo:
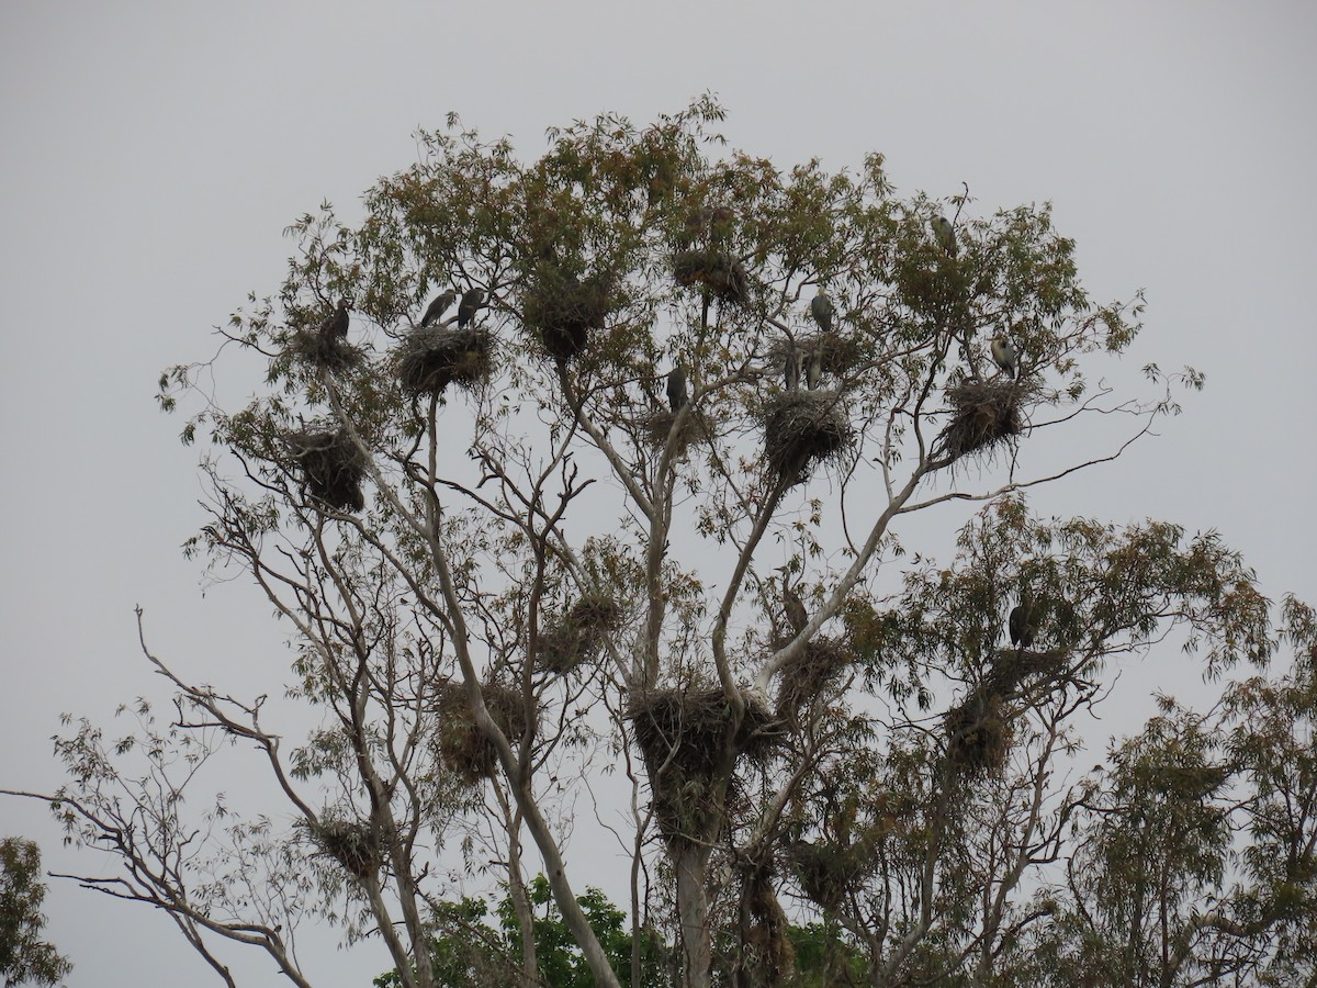
[[[203,599],[180,556],[202,518],[196,453],[155,410],[155,378],[277,287],[283,227],[321,199],[353,215],[449,111],[529,158],[551,125],[644,124],[710,90],[731,144],[781,167],[878,150],[901,194],[964,180],[980,213],[1052,200],[1094,298],[1147,288],[1123,370],[1192,364],[1208,389],[1033,506],[1217,528],[1271,597],[1317,602],[1314,50],[1317,5],[1300,1],[5,0],[0,788],[61,782],[61,711],[113,731],[117,702],[162,696],[137,603],[183,671],[279,682],[269,606],[240,582]],[[961,516],[932,524],[946,537]],[[1133,707],[1195,688],[1159,657],[1122,671]],[[0,802],[0,834],[38,839],[51,869],[100,867],[36,805]],[[215,983],[163,916],[67,883],[46,906],[70,985]],[[262,955],[224,956],[244,984],[284,983]],[[387,966],[378,948],[307,963],[335,985]]]

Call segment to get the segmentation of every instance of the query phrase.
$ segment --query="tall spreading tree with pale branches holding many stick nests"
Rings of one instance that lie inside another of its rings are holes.
[[[707,97],[645,129],[603,116],[528,163],[450,119],[360,224],[300,217],[281,291],[163,375],[205,444],[188,548],[265,594],[323,722],[286,747],[262,697],[184,680],[144,628],[169,723],[140,703],[108,743],[79,722],[57,747],[71,785],[40,797],[124,859],[84,884],[166,910],[228,983],[223,939],[307,984],[292,939],[316,919],[379,937],[411,988],[441,983],[448,846],[506,881],[535,984],[529,842],[590,974],[618,985],[566,864],[570,808],[618,765],[631,984],[651,927],[685,985],[789,983],[784,900],[839,977],[986,984],[1051,914],[1029,881],[1063,855],[1079,804],[1056,767],[1108,659],[1184,632],[1213,673],[1267,660],[1267,602],[1214,535],[1027,508],[1201,385],[1151,366],[1147,397],[1089,383],[1142,303],[1089,298],[1048,207],[902,199],[877,154],[784,171],[724,150],[722,116]],[[955,252],[930,228],[943,211]],[[436,290],[471,303],[419,325]],[[346,336],[320,332],[338,299]],[[784,387],[801,354],[815,386]],[[225,408],[205,382],[229,374],[265,389]],[[1026,469],[1033,436],[1081,420],[1123,431]],[[963,501],[984,508],[955,561],[906,555],[906,515]],[[1026,593],[1036,640],[1000,647]],[[215,798],[208,847],[183,796],[230,742],[261,752],[296,825]]]

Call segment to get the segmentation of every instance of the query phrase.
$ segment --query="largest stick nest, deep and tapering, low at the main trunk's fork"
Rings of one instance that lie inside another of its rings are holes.
[[[738,756],[765,761],[781,740],[768,705],[743,693],[745,717],[728,739],[731,710],[720,688],[661,689],[632,698],[632,736],[649,775],[658,830],[670,846],[699,840],[716,826],[712,788],[730,742]]]

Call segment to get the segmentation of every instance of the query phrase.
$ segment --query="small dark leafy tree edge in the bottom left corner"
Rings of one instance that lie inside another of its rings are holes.
[[[46,884],[40,876],[41,848],[17,837],[0,840],[0,976],[7,985],[58,984],[74,968],[41,939]]]

